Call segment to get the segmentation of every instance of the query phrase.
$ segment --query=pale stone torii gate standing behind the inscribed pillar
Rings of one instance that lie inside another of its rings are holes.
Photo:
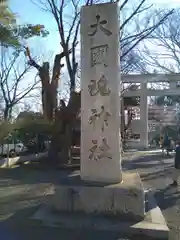
[[[148,96],[180,95],[180,74],[130,74],[121,76],[122,83],[140,83],[140,89],[127,90],[124,97],[140,96],[140,146],[148,148]],[[167,82],[169,89],[148,89],[148,83]]]

